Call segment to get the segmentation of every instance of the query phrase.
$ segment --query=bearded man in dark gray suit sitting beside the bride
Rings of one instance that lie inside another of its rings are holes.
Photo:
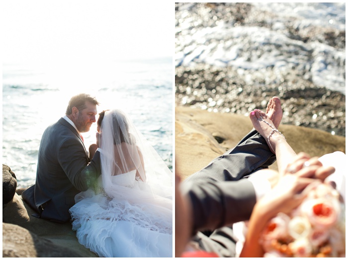
[[[88,94],[74,96],[66,115],[44,131],[35,185],[22,194],[36,211],[34,216],[69,221],[75,195],[92,187],[100,175],[100,153],[97,149],[90,160],[81,135],[95,122],[98,104]]]

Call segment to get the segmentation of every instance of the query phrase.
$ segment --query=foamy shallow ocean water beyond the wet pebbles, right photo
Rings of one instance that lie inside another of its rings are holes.
[[[242,4],[177,4],[175,66],[233,66],[247,83],[296,71],[346,94],[345,2]]]

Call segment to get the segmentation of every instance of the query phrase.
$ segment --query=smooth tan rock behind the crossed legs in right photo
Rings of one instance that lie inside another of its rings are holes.
[[[213,113],[201,109],[175,108],[175,167],[185,179],[212,159],[233,148],[253,129],[249,117]],[[346,138],[322,130],[280,125],[296,153],[322,156],[334,151],[346,153]],[[277,170],[276,163],[271,169]]]

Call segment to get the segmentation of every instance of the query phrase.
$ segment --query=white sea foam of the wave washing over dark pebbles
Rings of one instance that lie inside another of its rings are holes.
[[[178,19],[175,65],[233,66],[249,71],[272,67],[276,71],[296,67],[317,86],[346,94],[346,50],[318,41],[291,39],[284,29],[290,21],[295,29],[309,26],[345,31],[345,3],[252,3],[250,11],[267,11],[270,28],[233,26],[217,20],[211,26],[192,26],[192,19]],[[180,7],[187,16],[192,5]],[[186,9],[185,9],[186,8]],[[178,14],[177,16],[179,16]],[[201,21],[197,21],[201,22]],[[323,36],[324,37],[324,36]]]

